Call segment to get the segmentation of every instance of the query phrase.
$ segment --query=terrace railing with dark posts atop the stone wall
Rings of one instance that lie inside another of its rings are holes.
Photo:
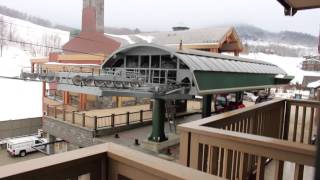
[[[46,106],[48,117],[53,117],[82,127],[100,130],[119,126],[128,126],[144,123],[152,120],[151,110],[127,112],[123,114],[111,114],[110,116],[88,116],[81,112],[68,112],[61,106]]]

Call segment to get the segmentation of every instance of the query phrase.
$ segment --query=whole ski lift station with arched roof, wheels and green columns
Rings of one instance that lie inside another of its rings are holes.
[[[208,117],[213,94],[281,86],[292,79],[284,70],[267,62],[155,44],[119,49],[105,60],[99,72],[41,73],[33,77],[55,81],[57,89],[63,91],[152,99],[152,132],[148,139],[154,142],[167,140],[166,101],[203,96],[202,114]],[[48,130],[50,134],[55,131]]]

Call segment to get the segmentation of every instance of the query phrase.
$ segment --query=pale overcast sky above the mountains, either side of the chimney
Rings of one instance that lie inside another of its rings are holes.
[[[54,23],[79,28],[82,0],[0,0],[0,4]],[[105,0],[105,25],[170,30],[230,24],[251,24],[278,32],[319,34],[320,9],[285,17],[277,0]]]

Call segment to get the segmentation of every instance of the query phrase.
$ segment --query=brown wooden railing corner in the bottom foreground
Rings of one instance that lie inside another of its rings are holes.
[[[0,167],[0,179],[221,179],[108,143]]]

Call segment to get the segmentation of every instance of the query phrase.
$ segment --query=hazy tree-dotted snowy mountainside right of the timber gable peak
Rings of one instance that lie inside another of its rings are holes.
[[[236,30],[248,53],[264,52],[289,57],[317,54],[318,37],[310,34],[291,31],[274,33],[250,25],[237,25]]]

